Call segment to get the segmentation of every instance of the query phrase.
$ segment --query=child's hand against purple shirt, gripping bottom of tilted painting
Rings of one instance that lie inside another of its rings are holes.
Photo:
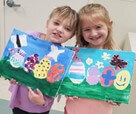
[[[35,92],[31,88],[29,88],[28,98],[34,104],[41,105],[41,106],[45,104],[44,96],[40,90],[37,90]]]

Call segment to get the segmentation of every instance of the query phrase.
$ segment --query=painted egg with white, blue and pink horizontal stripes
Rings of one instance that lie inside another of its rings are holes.
[[[69,69],[69,78],[75,84],[80,84],[85,79],[85,66],[81,61],[72,63]]]

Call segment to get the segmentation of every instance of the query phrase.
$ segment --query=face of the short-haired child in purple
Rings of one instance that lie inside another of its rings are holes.
[[[47,22],[47,40],[53,43],[61,44],[72,38],[73,29],[68,25],[67,21],[51,18]]]

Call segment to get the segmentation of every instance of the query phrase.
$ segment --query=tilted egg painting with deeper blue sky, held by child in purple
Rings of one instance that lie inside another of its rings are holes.
[[[0,76],[55,97],[74,52],[14,29],[0,60]]]

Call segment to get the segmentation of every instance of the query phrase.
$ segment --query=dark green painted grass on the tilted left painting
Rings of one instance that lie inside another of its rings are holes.
[[[32,89],[39,89],[42,93],[55,97],[60,82],[49,83],[46,79],[37,79],[34,77],[33,72],[26,72],[23,68],[13,68],[9,61],[5,59],[0,60],[0,76],[6,79],[15,79],[20,84],[31,87]],[[17,75],[17,74],[18,75]]]

